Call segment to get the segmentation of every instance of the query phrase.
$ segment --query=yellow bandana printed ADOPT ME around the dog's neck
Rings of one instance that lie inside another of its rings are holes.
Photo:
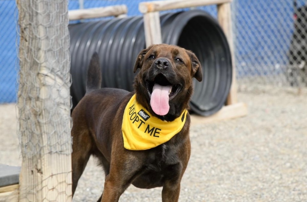
[[[169,141],[185,125],[188,111],[172,122],[152,116],[133,95],[128,102],[122,121],[124,147],[128,150],[148,150]]]

